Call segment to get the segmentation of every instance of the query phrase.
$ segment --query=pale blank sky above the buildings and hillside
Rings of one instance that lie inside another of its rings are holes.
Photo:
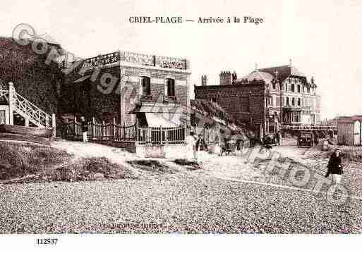
[[[254,23],[130,23],[133,16],[183,19],[251,16]],[[322,118],[362,114],[362,1],[6,1],[0,35],[19,23],[82,58],[116,50],[186,57],[192,85],[222,70],[238,78],[289,63],[315,78]]]

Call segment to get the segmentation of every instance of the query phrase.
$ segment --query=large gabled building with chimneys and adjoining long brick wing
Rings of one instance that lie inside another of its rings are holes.
[[[311,78],[291,64],[257,69],[243,78],[223,71],[220,85],[195,87],[195,98],[217,102],[236,120],[247,123],[260,135],[280,125],[320,123],[320,96]]]

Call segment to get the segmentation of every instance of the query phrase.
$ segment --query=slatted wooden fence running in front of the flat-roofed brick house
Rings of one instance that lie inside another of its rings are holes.
[[[68,140],[82,140],[82,124],[71,121],[65,124],[64,137]],[[149,128],[135,125],[119,125],[113,122],[97,123],[94,118],[88,122],[88,140],[93,142],[135,142],[138,145],[157,144],[180,144],[185,142],[186,128],[183,126],[175,128]]]

